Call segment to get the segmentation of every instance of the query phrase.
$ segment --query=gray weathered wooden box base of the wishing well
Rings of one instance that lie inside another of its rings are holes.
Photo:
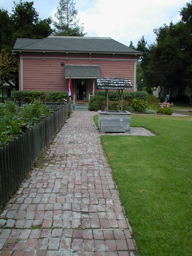
[[[100,132],[130,132],[131,113],[98,111]]]

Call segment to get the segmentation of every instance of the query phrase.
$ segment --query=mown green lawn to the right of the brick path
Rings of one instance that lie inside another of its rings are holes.
[[[157,136],[101,141],[140,255],[192,255],[192,118],[132,115],[131,126]]]

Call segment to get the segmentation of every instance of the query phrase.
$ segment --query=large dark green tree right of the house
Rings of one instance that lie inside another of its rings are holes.
[[[152,87],[185,88],[192,86],[192,1],[181,9],[181,21],[154,29],[156,41],[148,45],[144,36],[136,50],[143,52],[138,71],[148,91]],[[139,82],[139,81],[138,81]]]

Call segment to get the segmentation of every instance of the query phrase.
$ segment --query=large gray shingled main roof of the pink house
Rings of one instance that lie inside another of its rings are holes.
[[[48,36],[44,39],[18,38],[13,51],[112,52],[142,54],[112,38]]]

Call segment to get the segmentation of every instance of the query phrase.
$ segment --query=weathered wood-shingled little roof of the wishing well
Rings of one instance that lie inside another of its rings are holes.
[[[98,89],[127,89],[132,88],[130,78],[118,78],[118,77],[101,77],[97,78],[97,88]]]

